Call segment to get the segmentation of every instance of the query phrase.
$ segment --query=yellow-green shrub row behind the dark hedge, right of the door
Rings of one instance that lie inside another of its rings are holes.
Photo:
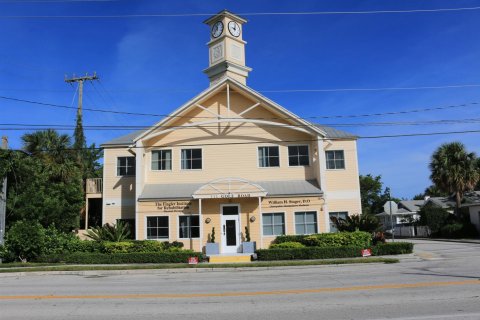
[[[370,246],[372,235],[368,232],[336,232],[319,233],[312,235],[285,235],[278,236],[273,244],[284,242],[298,242],[307,247],[368,247]]]

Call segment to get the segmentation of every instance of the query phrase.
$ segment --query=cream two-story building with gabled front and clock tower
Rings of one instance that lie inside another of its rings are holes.
[[[210,86],[151,128],[102,145],[102,223],[126,220],[136,239],[197,251],[215,228],[220,252],[235,253],[245,227],[266,248],[360,214],[356,137],[246,85],[245,19],[222,11],[205,23]]]

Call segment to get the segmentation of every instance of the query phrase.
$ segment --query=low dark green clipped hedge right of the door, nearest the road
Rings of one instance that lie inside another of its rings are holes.
[[[361,250],[365,247],[306,247],[289,249],[260,249],[257,250],[258,260],[308,260],[308,259],[335,259],[361,257]],[[405,254],[413,252],[413,244],[395,242],[377,245],[371,248],[375,256]]]

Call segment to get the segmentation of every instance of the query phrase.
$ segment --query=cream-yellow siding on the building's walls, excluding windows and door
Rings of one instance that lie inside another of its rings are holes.
[[[224,92],[210,97],[207,101],[203,101],[201,105],[213,113],[221,114],[223,117],[238,117],[241,112],[256,103],[257,101],[249,99],[239,92],[232,91],[230,110],[227,108],[227,98]],[[180,126],[192,121],[212,120],[214,115],[211,112],[199,107],[192,107],[182,114],[186,116],[185,118],[171,121],[169,126]],[[284,116],[280,115],[278,111],[269,110],[267,106],[263,105],[252,109],[243,117],[266,119],[282,124],[292,123],[291,120],[272,119]],[[161,129],[167,130],[168,128],[163,127]],[[140,159],[143,159],[143,165],[137,167],[138,181],[142,181],[140,178],[143,177],[143,182],[138,185],[139,189],[143,188],[144,184],[206,183],[214,179],[228,177],[239,177],[250,181],[319,180],[322,174],[318,162],[317,142],[312,141],[316,139],[316,135],[292,128],[230,122],[215,125],[204,124],[201,128],[176,129],[156,136],[149,135],[149,137],[142,141],[145,149],[137,150]],[[284,142],[272,143],[271,141]],[[305,144],[309,146],[310,165],[289,167],[288,146]],[[280,167],[260,168],[258,167],[258,146],[269,145],[279,145]],[[202,149],[202,169],[181,170],[181,149],[196,147]],[[172,150],[172,170],[154,171],[151,169],[151,151],[162,148]],[[274,236],[262,236],[260,212],[284,212],[286,234],[295,234],[295,212],[316,211],[318,232],[325,232],[328,230],[326,225],[328,223],[328,213],[324,212],[324,205],[328,206],[328,211],[361,212],[355,141],[327,141],[325,150],[344,150],[346,159],[344,170],[327,170],[324,172],[326,203],[323,198],[319,197],[266,198],[262,199],[262,205],[259,208],[258,198],[204,199],[202,200],[200,221],[200,226],[203,228],[203,237],[201,240],[189,240],[178,239],[178,217],[186,214],[199,214],[199,200],[192,200],[188,209],[174,209],[173,211],[165,211],[155,202],[138,202],[137,239],[146,238],[146,217],[166,215],[169,216],[168,241],[181,241],[185,244],[185,248],[200,250],[207,242],[212,227],[215,227],[216,242],[221,247],[220,207],[222,204],[230,203],[240,205],[242,240],[244,240],[245,226],[248,226],[251,239],[257,242],[259,248],[267,248],[275,238]],[[145,151],[144,156],[143,151]],[[135,217],[135,177],[116,176],[117,157],[130,155],[131,153],[126,148],[105,150],[104,222],[115,222],[118,218]],[[328,197],[329,194],[331,194],[330,198]],[[289,202],[288,205],[275,207],[269,204],[269,201],[272,200],[299,202],[292,202],[293,204]],[[309,200],[306,202],[308,204],[305,205],[304,200]],[[117,202],[123,204],[118,205]],[[255,217],[254,222],[250,222],[251,217]],[[207,218],[211,220],[208,224],[206,223]]]

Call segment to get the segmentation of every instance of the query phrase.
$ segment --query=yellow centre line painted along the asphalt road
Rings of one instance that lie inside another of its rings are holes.
[[[353,286],[338,288],[294,289],[252,292],[219,292],[219,293],[165,293],[165,294],[105,294],[105,295],[25,295],[25,296],[0,296],[0,300],[55,300],[55,299],[188,299],[188,298],[212,298],[212,297],[249,297],[266,295],[308,294],[308,293],[331,293],[345,291],[370,291],[383,289],[406,289],[428,288],[445,286],[479,285],[480,280],[464,281],[437,281],[417,283],[391,283],[372,286]]]

